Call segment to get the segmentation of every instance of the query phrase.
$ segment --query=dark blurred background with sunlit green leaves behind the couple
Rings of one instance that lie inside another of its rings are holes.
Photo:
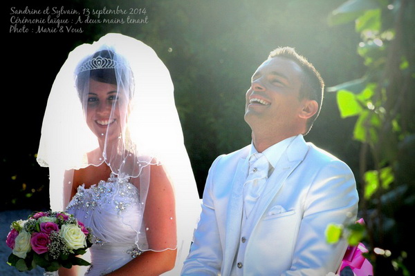
[[[174,81],[200,194],[214,158],[250,143],[243,111],[252,73],[271,50],[292,46],[326,82],[322,112],[305,138],[355,173],[375,275],[414,270],[414,1],[45,0],[4,5],[7,84],[0,181],[8,192],[5,188],[1,194],[1,210],[48,208],[48,170],[35,160],[40,128],[55,75],[80,43],[121,32],[156,50]],[[21,33],[12,31],[12,7],[137,8],[145,14],[136,18],[147,19],[78,23],[81,33]],[[374,253],[375,248],[384,251]]]

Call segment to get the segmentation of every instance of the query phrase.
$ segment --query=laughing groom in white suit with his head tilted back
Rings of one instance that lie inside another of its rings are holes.
[[[315,275],[336,272],[347,249],[329,224],[356,219],[350,168],[306,143],[324,82],[293,48],[277,48],[246,92],[252,144],[212,164],[182,275]]]

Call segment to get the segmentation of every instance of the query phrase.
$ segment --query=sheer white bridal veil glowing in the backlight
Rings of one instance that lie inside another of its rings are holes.
[[[108,99],[112,105],[109,117],[95,121],[100,125],[94,130],[88,125],[87,107],[95,103],[86,94],[91,79],[99,81],[103,69],[111,69],[117,89]],[[177,263],[183,263],[199,216],[199,196],[183,143],[172,79],[145,43],[107,34],[70,52],[50,91],[37,161],[49,168],[53,210],[64,210],[68,204],[74,170],[103,163],[120,179],[140,179],[137,188],[145,206],[150,168],[163,166],[174,188],[177,243],[147,250],[176,246]]]

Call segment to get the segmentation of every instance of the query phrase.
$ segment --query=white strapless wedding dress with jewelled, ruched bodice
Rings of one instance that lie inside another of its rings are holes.
[[[144,226],[140,226],[142,208],[136,186],[113,174],[91,188],[77,188],[66,211],[95,236],[85,275],[110,273],[140,255],[138,248],[148,248]]]

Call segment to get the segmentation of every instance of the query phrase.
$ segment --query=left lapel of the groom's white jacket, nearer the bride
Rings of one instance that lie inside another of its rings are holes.
[[[239,159],[232,181],[232,190],[226,214],[225,250],[223,252],[223,275],[229,275],[239,244],[243,213],[243,184],[248,175],[248,159]]]

